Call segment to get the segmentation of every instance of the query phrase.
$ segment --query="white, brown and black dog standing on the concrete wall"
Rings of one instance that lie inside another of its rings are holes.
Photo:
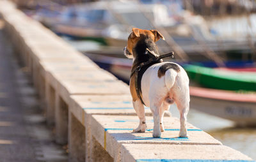
[[[163,35],[156,30],[132,29],[127,47],[124,48],[125,56],[133,59],[132,71],[135,71],[141,63],[148,61],[149,57],[145,55],[146,50],[150,50],[156,56],[159,55],[155,42],[160,38],[164,40]],[[132,103],[140,118],[140,124],[134,132],[145,132],[147,129],[144,103],[145,106],[150,107],[154,115],[153,136],[160,137],[161,132],[164,131],[164,111],[175,102],[180,112],[179,136],[188,136],[186,115],[189,110],[189,78],[186,71],[175,63],[156,63],[143,71],[141,80],[138,81],[136,78],[138,77],[135,75],[131,75],[130,78]],[[141,94],[138,94],[137,81],[141,85]]]

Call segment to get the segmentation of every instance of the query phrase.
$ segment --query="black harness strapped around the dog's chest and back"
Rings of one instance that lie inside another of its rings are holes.
[[[173,52],[170,52],[168,54],[156,56],[150,50],[148,50],[148,48],[146,48],[146,51],[144,54],[149,55],[150,59],[148,59],[147,62],[140,63],[137,66],[137,68],[135,68],[134,70],[131,71],[131,76],[130,76],[130,78],[131,78],[132,75],[135,75],[135,89],[136,89],[137,95],[140,98],[141,103],[143,103],[143,105],[145,105],[145,103],[143,102],[143,99],[141,98],[141,78],[143,76],[143,73],[153,64],[162,63],[163,58],[165,58],[165,57],[173,58],[173,55],[174,55]]]

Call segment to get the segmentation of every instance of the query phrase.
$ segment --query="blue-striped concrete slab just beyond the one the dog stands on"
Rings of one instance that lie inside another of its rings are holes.
[[[82,124],[85,124],[86,114],[136,115],[130,94],[72,95],[70,98],[70,111]],[[152,115],[152,112],[145,108],[145,114]]]

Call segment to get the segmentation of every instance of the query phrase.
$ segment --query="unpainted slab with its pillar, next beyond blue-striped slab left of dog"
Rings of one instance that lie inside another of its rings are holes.
[[[79,82],[77,80],[58,80],[61,84],[55,92],[55,126],[56,126],[56,142],[65,144],[68,136],[68,103],[70,103],[70,95],[72,94],[127,94],[127,85],[118,80],[97,82]]]

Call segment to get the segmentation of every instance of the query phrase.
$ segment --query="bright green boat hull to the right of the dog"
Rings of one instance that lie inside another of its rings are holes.
[[[202,66],[184,66],[190,80],[213,89],[256,91],[256,73],[216,70]]]

